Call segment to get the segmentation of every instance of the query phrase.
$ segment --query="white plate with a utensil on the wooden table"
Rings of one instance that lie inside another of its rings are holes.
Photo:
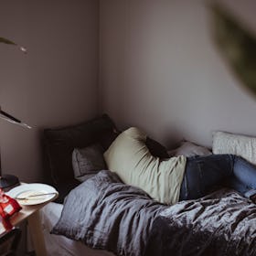
[[[29,197],[32,195],[35,196],[37,194],[48,194],[48,193],[54,193],[54,194],[38,196],[38,197]],[[20,185],[6,192],[6,194],[10,197],[16,198],[18,203],[23,206],[33,206],[33,205],[42,204],[42,203],[48,202],[53,197],[56,197],[57,195],[59,195],[58,191],[54,187],[51,187],[46,184],[41,184],[41,183],[30,183],[30,184]],[[18,199],[18,197],[21,197],[21,198],[27,197],[27,199]]]

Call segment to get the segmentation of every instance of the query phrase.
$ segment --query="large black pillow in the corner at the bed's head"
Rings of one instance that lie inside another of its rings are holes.
[[[86,123],[44,130],[48,182],[53,185],[72,182],[72,151],[99,143],[107,149],[117,136],[115,125],[107,114]],[[58,188],[58,187],[57,187]]]

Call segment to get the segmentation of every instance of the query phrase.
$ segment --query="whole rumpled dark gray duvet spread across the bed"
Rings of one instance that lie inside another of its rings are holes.
[[[229,189],[167,207],[101,171],[66,197],[52,233],[117,255],[256,255],[256,206]]]

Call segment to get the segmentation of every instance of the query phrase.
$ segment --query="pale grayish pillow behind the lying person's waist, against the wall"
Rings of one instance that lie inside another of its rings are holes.
[[[182,142],[175,150],[168,151],[170,156],[184,155],[186,157],[194,155],[211,155],[207,147],[191,142]]]

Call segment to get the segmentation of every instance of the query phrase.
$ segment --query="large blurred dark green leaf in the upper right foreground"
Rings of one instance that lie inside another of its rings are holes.
[[[256,96],[256,36],[223,6],[213,4],[211,9],[214,38],[222,56]]]

